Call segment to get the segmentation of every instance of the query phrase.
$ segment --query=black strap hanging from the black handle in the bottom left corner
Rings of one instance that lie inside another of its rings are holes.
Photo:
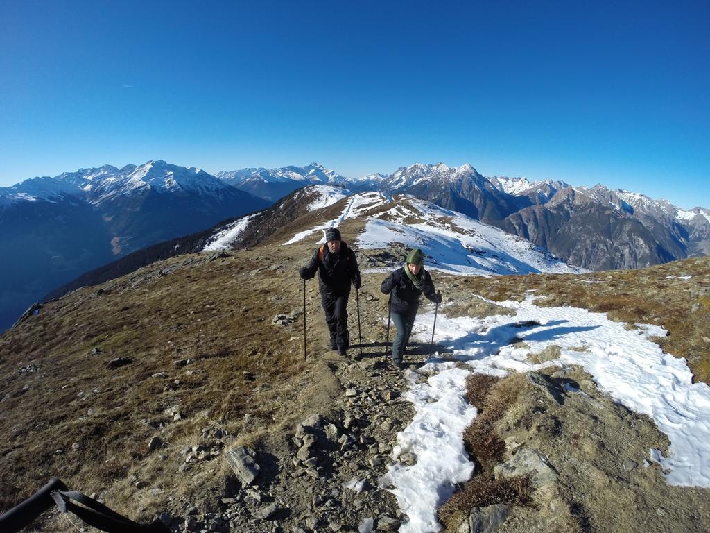
[[[155,519],[150,524],[139,524],[133,522],[106,505],[97,502],[87,495],[75,490],[57,490],[52,492],[52,497],[57,507],[62,512],[73,512],[84,522],[92,527],[101,529],[107,533],[168,533],[168,529],[160,519]],[[71,500],[80,502],[76,505]]]

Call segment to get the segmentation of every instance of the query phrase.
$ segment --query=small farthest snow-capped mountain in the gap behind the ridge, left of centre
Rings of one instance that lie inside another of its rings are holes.
[[[319,163],[270,170],[244,168],[241,171],[222,171],[217,173],[217,178],[271,203],[305,185],[340,185],[346,182],[344,176]]]

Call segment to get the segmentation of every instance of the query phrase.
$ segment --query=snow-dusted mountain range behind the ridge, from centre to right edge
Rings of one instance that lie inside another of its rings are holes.
[[[308,167],[229,174],[235,187],[262,198],[307,183],[349,190],[406,193],[501,227],[586,269],[630,269],[710,254],[710,210],[681,210],[666,200],[603,185],[573,187],[563,181],[486,177],[471,165],[415,164],[392,174],[344,178],[313,163]],[[317,169],[319,173],[315,174]],[[255,178],[258,176],[258,178]],[[258,188],[253,188],[253,180]]]

